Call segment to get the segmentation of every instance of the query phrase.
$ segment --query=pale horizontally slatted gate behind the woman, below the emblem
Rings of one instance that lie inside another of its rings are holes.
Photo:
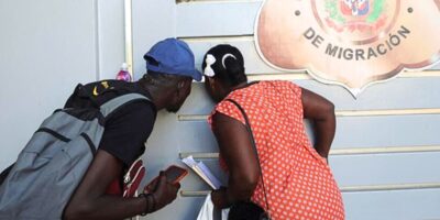
[[[440,72],[402,74],[354,99],[341,87],[317,82],[304,73],[272,69],[260,58],[253,35],[262,0],[134,2],[135,50],[161,40],[161,33],[172,34],[189,44],[200,66],[211,46],[232,44],[242,51],[250,78],[294,80],[334,102],[338,130],[330,165],[348,219],[440,219]],[[141,51],[134,57],[142,57]],[[141,69],[143,61],[135,59],[134,67]],[[170,163],[180,164],[180,154],[189,153],[221,175],[217,157],[206,154],[218,152],[205,121],[211,108],[204,86],[194,84],[177,114],[158,116],[144,156],[153,170],[146,179]],[[182,183],[184,196],[146,219],[195,219],[206,190],[209,187],[190,173]]]

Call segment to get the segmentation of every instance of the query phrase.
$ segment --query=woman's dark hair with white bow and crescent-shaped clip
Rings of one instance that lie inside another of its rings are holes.
[[[201,68],[206,77],[220,79],[228,86],[248,81],[243,55],[237,47],[229,44],[210,48],[204,57]]]

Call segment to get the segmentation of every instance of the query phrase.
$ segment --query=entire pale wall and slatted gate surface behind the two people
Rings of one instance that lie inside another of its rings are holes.
[[[277,72],[260,59],[253,46],[253,23],[261,3],[133,0],[135,78],[144,73],[146,50],[164,37],[177,36],[194,50],[198,66],[209,47],[230,43],[243,52],[249,74],[273,79],[267,74]],[[122,0],[0,0],[0,169],[16,158],[42,120],[63,106],[77,82],[114,77],[124,61],[123,16]],[[374,85],[358,100],[340,87],[284,73],[332,100],[339,112],[363,113],[338,117],[333,150],[340,153],[330,157],[344,189],[348,219],[440,219],[440,116],[398,113],[440,109],[440,74],[431,73]],[[211,108],[202,86],[195,84],[178,114],[158,114],[144,156],[144,183],[170,163],[179,164],[180,153],[202,156],[218,151],[202,117]],[[375,116],[377,110],[391,111]],[[397,153],[380,153],[386,148]],[[221,176],[216,157],[204,161]],[[433,187],[417,189],[429,184]],[[362,186],[382,190],[365,191]],[[182,189],[189,196],[179,196],[147,219],[194,219],[204,198],[191,191],[209,188],[190,173]]]

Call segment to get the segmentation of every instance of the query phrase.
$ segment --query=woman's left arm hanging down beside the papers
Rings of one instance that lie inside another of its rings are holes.
[[[212,117],[212,131],[229,169],[228,188],[215,190],[212,201],[216,207],[226,208],[252,196],[258,183],[260,167],[251,135],[243,123],[217,112]]]

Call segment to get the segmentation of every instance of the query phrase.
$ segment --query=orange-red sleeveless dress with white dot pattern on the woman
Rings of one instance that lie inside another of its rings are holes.
[[[240,103],[251,121],[273,220],[344,219],[330,167],[306,134],[301,89],[289,81],[261,81],[232,91],[227,99]],[[229,101],[217,105],[210,124],[216,112],[245,123]],[[221,155],[220,164],[227,169]],[[261,179],[251,200],[266,208]]]

